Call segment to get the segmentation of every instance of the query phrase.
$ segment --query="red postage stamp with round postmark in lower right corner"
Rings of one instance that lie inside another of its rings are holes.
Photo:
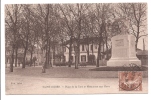
[[[142,91],[142,72],[119,72],[119,91]]]

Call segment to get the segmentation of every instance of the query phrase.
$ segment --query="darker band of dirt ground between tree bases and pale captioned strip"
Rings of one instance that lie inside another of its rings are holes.
[[[104,71],[103,71],[104,69]],[[106,69],[106,70],[105,70]],[[118,68],[117,68],[118,69]],[[119,70],[107,70],[107,68],[79,68],[73,67],[52,67],[42,73],[41,67],[14,68],[14,72],[9,72],[6,68],[7,76],[20,77],[44,77],[44,78],[117,78]],[[148,71],[143,71],[143,77],[148,77]]]

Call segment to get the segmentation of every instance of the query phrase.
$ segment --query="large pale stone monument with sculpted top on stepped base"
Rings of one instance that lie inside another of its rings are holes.
[[[140,66],[141,61],[136,57],[135,37],[131,34],[128,34],[128,26],[125,19],[120,19],[116,22],[116,25],[119,25],[118,28],[121,27],[121,29],[117,29],[119,34],[111,38],[111,58],[107,62],[107,66],[129,66],[129,64],[136,64]],[[124,28],[121,23],[123,24]],[[112,27],[114,28],[115,26]]]

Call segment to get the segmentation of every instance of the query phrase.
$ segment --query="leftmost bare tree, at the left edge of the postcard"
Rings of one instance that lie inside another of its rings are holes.
[[[6,17],[5,22],[8,25],[8,28],[10,28],[12,34],[11,34],[11,63],[10,63],[10,72],[13,72],[13,63],[14,63],[14,50],[16,47],[17,42],[17,34],[18,34],[18,21],[20,18],[20,11],[21,11],[21,5],[5,5],[6,8]]]

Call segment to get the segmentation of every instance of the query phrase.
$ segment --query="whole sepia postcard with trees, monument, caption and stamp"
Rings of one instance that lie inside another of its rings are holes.
[[[4,13],[6,95],[148,94],[147,2],[5,4]]]

